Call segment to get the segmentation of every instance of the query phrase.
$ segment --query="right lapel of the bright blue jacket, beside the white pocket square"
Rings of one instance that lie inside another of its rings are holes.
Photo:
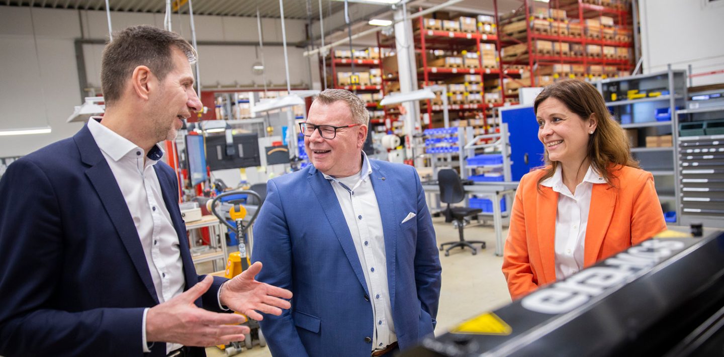
[[[379,207],[379,216],[382,218],[382,234],[384,235],[384,255],[387,257],[387,286],[390,289],[390,303],[392,311],[395,311],[395,256],[397,256],[397,232],[399,232],[400,224],[395,223],[400,217],[395,209],[394,196],[390,189],[390,180],[386,179],[386,174],[379,169],[377,164],[370,160],[372,173],[369,176],[374,195],[377,197],[377,206]]]

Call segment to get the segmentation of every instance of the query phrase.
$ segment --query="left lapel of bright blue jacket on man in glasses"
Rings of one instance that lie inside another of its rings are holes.
[[[307,180],[317,199],[319,199],[319,203],[324,210],[324,214],[327,216],[329,225],[332,227],[332,230],[334,230],[334,234],[337,235],[337,239],[340,240],[342,250],[345,251],[345,256],[347,256],[347,259],[350,261],[357,280],[359,280],[364,288],[365,293],[369,295],[367,283],[364,280],[364,274],[362,272],[362,264],[355,249],[355,243],[352,241],[350,229],[347,226],[345,215],[342,213],[342,208],[340,207],[340,201],[337,200],[337,195],[334,194],[332,185],[329,185],[324,175],[315,168],[310,169]]]

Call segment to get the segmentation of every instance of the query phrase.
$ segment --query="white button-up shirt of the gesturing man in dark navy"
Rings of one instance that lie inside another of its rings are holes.
[[[159,146],[153,146],[149,153],[145,153],[142,148],[93,118],[88,120],[88,130],[123,193],[146,255],[159,303],[180,295],[183,293],[185,278],[179,237],[161,194],[159,177],[153,169],[164,152]],[[147,313],[148,308],[143,312],[143,352],[151,352],[146,343]],[[181,347],[179,344],[167,343],[167,353]]]

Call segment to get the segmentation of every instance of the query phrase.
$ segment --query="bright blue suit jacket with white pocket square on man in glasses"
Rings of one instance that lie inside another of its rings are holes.
[[[432,219],[415,169],[370,160],[387,255],[392,317],[400,348],[431,334],[440,292]],[[401,223],[413,212],[417,216]],[[334,194],[312,166],[269,180],[254,225],[258,280],[292,290],[292,308],[265,315],[275,356],[369,356],[374,332],[369,291]]]

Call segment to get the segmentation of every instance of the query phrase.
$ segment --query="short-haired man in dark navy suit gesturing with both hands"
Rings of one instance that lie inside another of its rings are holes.
[[[156,143],[201,109],[193,48],[151,26],[106,46],[106,113],[0,180],[0,355],[203,356],[243,340],[238,314],[281,314],[288,290],[198,276],[174,170]],[[228,306],[228,308],[226,307]],[[208,311],[211,310],[211,311]],[[212,312],[215,311],[215,312]]]

